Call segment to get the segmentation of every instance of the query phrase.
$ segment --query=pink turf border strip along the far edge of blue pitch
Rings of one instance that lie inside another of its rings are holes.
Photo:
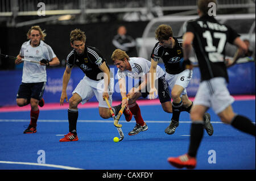
[[[237,95],[233,96],[235,100],[255,100],[255,95]],[[195,98],[189,98],[190,100],[194,100]],[[159,99],[154,100],[137,100],[137,103],[140,106],[147,106],[147,105],[159,105]],[[113,106],[119,104],[119,102],[113,102]],[[85,104],[79,104],[79,108],[97,108],[98,102],[88,102]],[[68,103],[64,103],[63,106],[60,106],[59,103],[48,103],[45,104],[44,107],[41,107],[40,110],[67,110]],[[0,112],[16,112],[16,111],[30,111],[30,106],[18,107],[18,106],[5,106],[0,107]]]

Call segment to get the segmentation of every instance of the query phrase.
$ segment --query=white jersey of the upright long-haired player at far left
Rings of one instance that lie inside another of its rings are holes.
[[[52,58],[56,57],[52,48],[42,40],[40,41],[40,45],[38,45],[38,47],[31,47],[30,41],[26,41],[22,44],[19,54],[25,59],[34,61],[40,61],[42,59],[51,61]],[[46,81],[46,66],[24,61],[22,82],[35,83]]]

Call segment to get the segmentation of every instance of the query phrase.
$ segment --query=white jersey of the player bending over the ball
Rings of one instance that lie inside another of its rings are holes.
[[[118,79],[131,77],[133,79],[139,79],[143,75],[149,73],[151,62],[141,57],[130,57],[129,64],[131,65],[131,71],[118,69]],[[164,75],[164,70],[158,65],[156,67],[156,79]]]

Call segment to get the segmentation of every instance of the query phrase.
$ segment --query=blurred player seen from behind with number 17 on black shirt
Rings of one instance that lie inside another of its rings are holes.
[[[196,155],[203,138],[203,115],[209,107],[220,117],[221,121],[232,125],[234,128],[255,136],[255,125],[245,116],[233,112],[231,104],[234,98],[227,89],[228,73],[226,66],[234,64],[238,58],[247,52],[245,43],[240,35],[232,28],[217,22],[214,16],[208,14],[209,3],[217,5],[216,0],[199,0],[197,2],[199,19],[187,24],[184,34],[184,66],[192,69],[189,61],[191,44],[196,52],[201,72],[201,83],[191,109],[191,137],[188,153],[179,157],[170,157],[168,162],[177,168],[196,167]],[[225,64],[225,45],[232,43],[238,47],[232,62]]]

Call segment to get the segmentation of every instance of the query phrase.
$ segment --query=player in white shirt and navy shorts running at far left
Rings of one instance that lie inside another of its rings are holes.
[[[28,41],[22,44],[20,52],[15,60],[15,64],[20,64],[22,58],[39,61],[40,64],[24,62],[22,83],[19,86],[16,96],[18,106],[30,104],[30,124],[24,133],[36,133],[36,123],[39,116],[39,108],[44,106],[44,88],[46,86],[47,75],[46,66],[56,66],[60,64],[52,48],[44,43],[46,33],[39,26],[32,26],[27,32]]]

